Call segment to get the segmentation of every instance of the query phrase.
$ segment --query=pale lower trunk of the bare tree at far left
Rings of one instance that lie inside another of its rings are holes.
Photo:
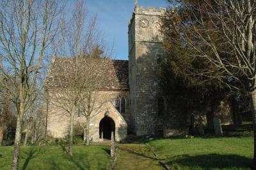
[[[17,116],[17,127],[15,132],[14,150],[12,158],[12,170],[19,168],[19,156],[20,156],[20,139],[21,139],[21,122],[20,116]]]

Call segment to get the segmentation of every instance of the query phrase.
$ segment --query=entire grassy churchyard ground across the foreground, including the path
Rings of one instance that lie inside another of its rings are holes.
[[[156,157],[144,144],[148,143]],[[117,144],[115,169],[164,169],[162,160],[171,169],[250,169],[253,158],[253,137],[194,137],[145,140],[134,138]],[[0,147],[0,169],[10,169],[13,146]],[[73,157],[60,144],[21,148],[19,169],[109,169],[108,145],[74,145]]]

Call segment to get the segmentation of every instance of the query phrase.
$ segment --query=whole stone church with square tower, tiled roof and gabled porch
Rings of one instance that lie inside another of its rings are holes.
[[[108,83],[99,91],[100,98],[111,96],[100,106],[100,111],[90,121],[90,139],[100,141],[110,139],[122,141],[127,133],[148,134],[186,134],[186,118],[172,111],[166,104],[166,97],[159,87],[158,68],[164,58],[161,17],[165,8],[143,8],[136,4],[129,22],[129,61],[101,59],[100,66],[108,67],[103,77]],[[61,64],[56,58],[52,68]],[[118,65],[118,68],[116,67]],[[121,75],[121,76],[120,76]],[[47,132],[62,138],[68,132],[68,116],[56,114],[60,108],[51,104],[51,93],[58,88],[51,73],[49,86],[49,105],[47,107]],[[79,120],[79,116],[76,117]]]

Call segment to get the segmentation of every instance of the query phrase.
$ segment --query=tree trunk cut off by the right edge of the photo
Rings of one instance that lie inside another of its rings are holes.
[[[254,154],[253,169],[256,169],[256,89],[252,92],[252,112],[253,112],[253,136],[254,136]]]

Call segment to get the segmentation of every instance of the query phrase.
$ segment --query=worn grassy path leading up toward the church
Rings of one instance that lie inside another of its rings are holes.
[[[145,144],[118,144],[117,153],[116,170],[163,169]]]

